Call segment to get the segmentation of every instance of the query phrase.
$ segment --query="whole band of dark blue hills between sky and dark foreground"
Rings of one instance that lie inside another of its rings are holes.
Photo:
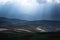
[[[0,28],[22,28],[36,31],[36,28],[40,28],[46,31],[56,31],[60,30],[60,21],[54,20],[37,20],[37,21],[27,21],[20,19],[11,19],[0,17]]]

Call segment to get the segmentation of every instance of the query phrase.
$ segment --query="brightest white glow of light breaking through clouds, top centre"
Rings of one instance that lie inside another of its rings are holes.
[[[33,14],[39,7],[39,3],[36,0],[19,0],[17,1],[18,8],[21,7],[22,12],[25,14]]]

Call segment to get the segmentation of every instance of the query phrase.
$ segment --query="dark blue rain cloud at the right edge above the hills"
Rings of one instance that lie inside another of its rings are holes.
[[[60,4],[55,4],[53,7],[51,18],[54,20],[60,20]]]

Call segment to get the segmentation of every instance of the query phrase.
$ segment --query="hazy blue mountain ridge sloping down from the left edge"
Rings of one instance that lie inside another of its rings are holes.
[[[24,24],[27,22],[26,20],[19,20],[19,19],[10,19],[5,17],[0,17],[0,24],[1,23],[10,23],[10,24]]]

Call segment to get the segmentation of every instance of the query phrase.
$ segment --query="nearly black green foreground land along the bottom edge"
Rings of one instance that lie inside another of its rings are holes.
[[[0,32],[3,40],[60,40],[60,32]]]

